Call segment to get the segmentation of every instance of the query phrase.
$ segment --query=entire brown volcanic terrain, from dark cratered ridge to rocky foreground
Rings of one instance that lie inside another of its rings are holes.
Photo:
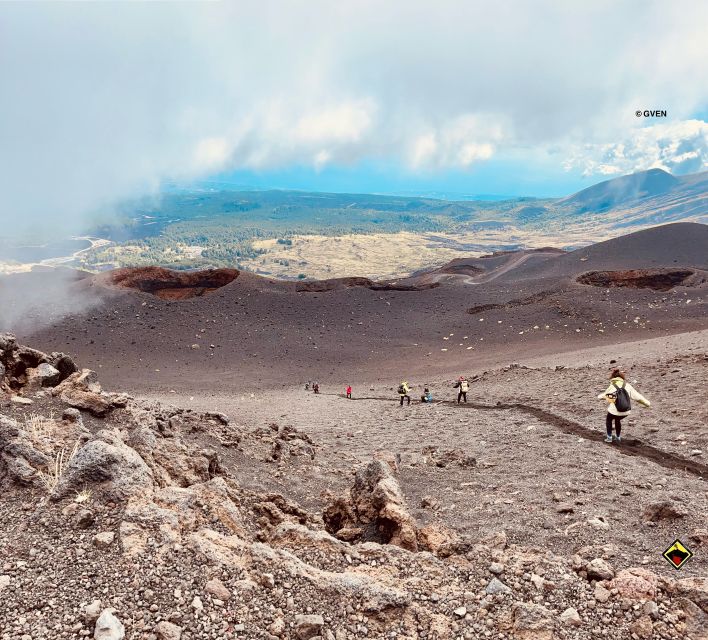
[[[708,637],[708,226],[3,304],[52,278],[0,338],[1,640]]]

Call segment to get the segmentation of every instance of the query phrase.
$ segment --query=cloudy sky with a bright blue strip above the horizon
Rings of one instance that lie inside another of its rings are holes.
[[[0,2],[0,236],[174,183],[560,196],[706,170],[706,24],[703,0]]]

